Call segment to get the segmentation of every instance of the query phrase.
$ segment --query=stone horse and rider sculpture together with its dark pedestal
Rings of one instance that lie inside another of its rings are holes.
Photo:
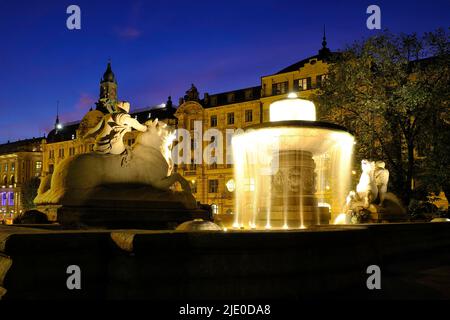
[[[64,159],[42,181],[36,205],[58,206],[58,221],[65,224],[156,221],[155,227],[164,228],[161,223],[210,219],[210,210],[199,207],[189,183],[173,171],[175,133],[157,119],[140,124],[128,114],[128,104],[119,106],[88,132],[97,134],[94,152]],[[127,149],[123,135],[131,128],[141,132]],[[173,190],[176,182],[182,191]]]

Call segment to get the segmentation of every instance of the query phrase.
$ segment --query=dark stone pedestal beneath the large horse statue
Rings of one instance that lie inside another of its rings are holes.
[[[64,226],[164,230],[193,219],[213,220],[210,206],[198,204],[190,193],[142,185],[98,187],[82,203],[68,201],[53,206],[53,211]]]

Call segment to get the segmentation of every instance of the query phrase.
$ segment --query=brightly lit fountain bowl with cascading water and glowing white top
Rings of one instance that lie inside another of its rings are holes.
[[[298,229],[328,224],[350,190],[354,139],[316,121],[311,101],[290,94],[270,105],[270,122],[233,138],[233,227]]]

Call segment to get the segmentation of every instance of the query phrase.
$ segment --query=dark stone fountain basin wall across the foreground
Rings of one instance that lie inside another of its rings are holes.
[[[420,277],[418,265],[450,266],[449,249],[450,223],[254,232],[0,226],[0,293],[4,299],[361,298],[374,294],[366,269],[376,264],[381,297],[429,298],[437,293],[407,290],[400,278]],[[83,290],[66,288],[72,264],[82,270]]]

